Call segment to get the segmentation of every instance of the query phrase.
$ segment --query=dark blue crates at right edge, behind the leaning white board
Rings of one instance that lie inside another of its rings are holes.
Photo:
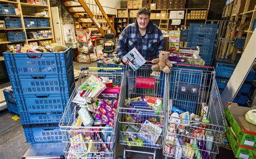
[[[225,89],[228,80],[233,74],[235,69],[235,64],[227,64],[227,63],[217,63],[216,66],[216,81],[220,90],[220,93]],[[252,82],[255,77],[255,71],[251,69],[250,73],[245,78],[244,84],[242,84],[237,96],[234,98],[233,102],[238,103],[241,106],[246,106],[246,101],[248,94],[251,90]]]

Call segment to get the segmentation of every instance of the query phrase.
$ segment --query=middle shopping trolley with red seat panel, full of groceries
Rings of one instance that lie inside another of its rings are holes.
[[[153,158],[156,158],[156,150],[161,149],[163,145],[166,102],[169,100],[169,95],[167,95],[169,92],[169,86],[167,86],[169,84],[169,74],[152,71],[151,66],[152,64],[144,64],[137,71],[129,70],[130,68],[126,69],[127,100],[124,105],[120,105],[118,116],[120,125],[119,143],[124,145],[123,158],[126,158],[126,151],[150,154],[153,155]],[[166,82],[160,84],[160,81]],[[131,106],[131,100],[137,100],[138,98],[143,100],[147,96],[163,98],[163,106],[146,106],[144,108]],[[126,146],[150,148],[154,149],[154,152],[126,149]]]

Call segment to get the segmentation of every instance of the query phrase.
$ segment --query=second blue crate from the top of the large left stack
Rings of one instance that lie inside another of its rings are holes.
[[[69,93],[75,85],[74,72],[57,75],[9,75],[15,95],[48,95]]]

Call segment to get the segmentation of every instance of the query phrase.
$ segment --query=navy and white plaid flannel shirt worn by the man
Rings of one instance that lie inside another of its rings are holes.
[[[159,51],[164,50],[163,34],[151,20],[147,25],[144,38],[139,33],[137,20],[124,29],[117,44],[119,59],[122,60],[123,56],[134,47],[136,47],[145,60],[158,58]]]

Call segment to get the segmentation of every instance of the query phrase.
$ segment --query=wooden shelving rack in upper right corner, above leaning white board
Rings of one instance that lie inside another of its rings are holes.
[[[233,0],[225,5],[223,11],[223,19],[230,21],[241,21],[241,25],[237,25],[235,29],[233,29],[232,27],[227,29],[225,38],[244,38],[245,43],[243,49],[240,50],[235,48],[234,42],[223,42],[223,44],[221,44],[222,49],[220,49],[219,52],[217,52],[218,57],[222,57],[227,54],[231,56],[230,59],[232,59],[232,62],[234,62],[236,59],[235,56],[239,54],[239,52],[242,53],[242,51],[245,49],[253,33],[253,23],[254,19],[256,19],[255,4],[255,0]]]

